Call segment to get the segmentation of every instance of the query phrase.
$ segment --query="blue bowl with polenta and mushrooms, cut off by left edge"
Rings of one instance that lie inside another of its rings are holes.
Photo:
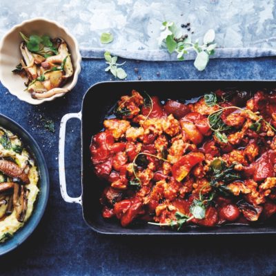
[[[19,124],[0,115],[0,255],[32,234],[48,194],[48,169],[37,142]]]

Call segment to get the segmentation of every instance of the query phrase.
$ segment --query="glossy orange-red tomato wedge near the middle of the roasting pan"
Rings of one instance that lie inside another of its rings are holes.
[[[177,181],[182,181],[193,166],[203,160],[204,154],[201,152],[190,152],[188,155],[182,156],[179,161],[172,166],[172,176],[175,177]]]

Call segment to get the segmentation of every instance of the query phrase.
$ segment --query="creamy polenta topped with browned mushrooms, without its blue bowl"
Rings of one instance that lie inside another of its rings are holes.
[[[0,242],[32,215],[39,172],[17,135],[0,127]]]

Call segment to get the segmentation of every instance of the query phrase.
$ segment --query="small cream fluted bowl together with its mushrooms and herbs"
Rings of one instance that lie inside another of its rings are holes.
[[[62,97],[75,87],[80,70],[77,40],[55,21],[23,21],[1,40],[0,81],[22,101]]]

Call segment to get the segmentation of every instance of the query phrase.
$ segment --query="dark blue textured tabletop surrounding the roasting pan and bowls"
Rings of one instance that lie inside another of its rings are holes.
[[[192,61],[153,63],[128,60],[128,79],[275,79],[276,59],[212,60],[204,72]],[[81,206],[67,204],[59,191],[59,122],[78,112],[88,87],[110,79],[103,60],[84,60],[76,88],[43,106],[30,106],[0,86],[0,112],[19,122],[37,140],[50,172],[48,208],[33,235],[0,258],[1,275],[275,275],[276,239],[270,236],[108,237],[93,233]],[[138,74],[134,68],[138,68]],[[157,72],[160,76],[157,76]],[[276,83],[275,83],[276,86]],[[204,92],[204,91],[203,91]],[[97,104],[97,103],[95,103]],[[55,134],[42,118],[55,121]],[[68,125],[66,169],[70,195],[80,193],[79,122]]]

